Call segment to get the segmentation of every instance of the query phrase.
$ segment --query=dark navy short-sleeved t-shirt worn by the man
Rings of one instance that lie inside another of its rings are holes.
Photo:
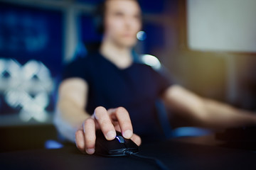
[[[160,137],[155,101],[171,86],[163,73],[156,72],[142,62],[133,62],[126,69],[119,69],[100,55],[77,58],[65,66],[63,79],[80,77],[89,85],[87,107],[92,114],[97,106],[117,108],[129,112],[134,132],[142,137]]]

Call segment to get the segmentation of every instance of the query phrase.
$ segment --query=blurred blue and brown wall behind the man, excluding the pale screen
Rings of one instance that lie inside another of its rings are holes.
[[[139,52],[158,57],[176,83],[196,94],[255,110],[255,53],[191,49],[185,0],[139,2],[146,34]],[[100,42],[93,26],[99,1],[0,3],[0,125],[51,123],[62,63]]]

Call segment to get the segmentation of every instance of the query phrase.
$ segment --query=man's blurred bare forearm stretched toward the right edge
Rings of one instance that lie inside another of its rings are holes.
[[[214,129],[256,125],[256,114],[202,98],[181,86],[171,86],[164,94],[164,101],[192,125]]]

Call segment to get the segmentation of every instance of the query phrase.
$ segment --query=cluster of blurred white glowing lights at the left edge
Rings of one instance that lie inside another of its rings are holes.
[[[10,77],[0,76],[0,93],[4,92],[6,103],[12,108],[21,107],[21,120],[31,118],[43,122],[48,118],[46,107],[53,89],[50,70],[41,62],[30,60],[23,66],[16,60],[0,59],[0,75],[7,72]],[[38,79],[33,79],[36,76]]]

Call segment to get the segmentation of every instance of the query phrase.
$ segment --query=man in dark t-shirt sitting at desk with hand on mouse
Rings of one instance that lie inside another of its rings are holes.
[[[100,52],[70,64],[59,87],[55,125],[81,152],[95,152],[97,129],[107,140],[113,140],[119,130],[137,145],[142,142],[139,135],[156,137],[160,130],[154,100],[158,97],[167,108],[201,127],[256,124],[252,113],[201,98],[132,60],[132,47],[142,28],[137,1],[105,1],[103,25]],[[69,68],[75,71],[70,73]]]

